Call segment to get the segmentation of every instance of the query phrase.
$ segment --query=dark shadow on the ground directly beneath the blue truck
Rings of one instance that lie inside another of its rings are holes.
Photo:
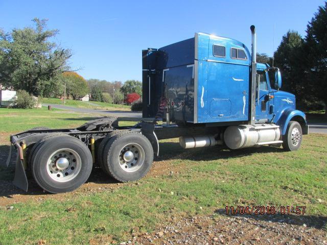
[[[160,142],[160,153],[155,157],[154,161],[166,161],[174,159],[184,159],[193,161],[211,161],[226,158],[237,158],[249,156],[258,153],[279,153],[283,152],[282,148],[272,146],[262,146],[261,148],[247,148],[241,150],[228,150],[224,146],[212,146],[209,148],[182,149],[178,142]],[[9,153],[9,145],[0,145],[0,197],[11,198],[11,195],[44,195],[44,192],[33,180],[28,173],[29,190],[25,192],[12,184],[15,173],[16,153],[13,152],[11,162],[8,168],[5,167],[5,162]],[[150,170],[151,171],[151,170]],[[116,184],[118,181],[108,177],[102,169],[96,164],[92,169],[92,173],[86,183],[97,184]]]

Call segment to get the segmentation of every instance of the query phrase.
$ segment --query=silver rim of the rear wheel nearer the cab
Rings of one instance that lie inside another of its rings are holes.
[[[120,167],[126,172],[138,170],[144,164],[144,160],[144,149],[137,143],[126,144],[118,157]]]

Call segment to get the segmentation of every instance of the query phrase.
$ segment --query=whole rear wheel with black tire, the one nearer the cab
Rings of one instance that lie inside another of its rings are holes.
[[[103,153],[107,173],[121,182],[141,179],[153,162],[150,141],[137,132],[120,131],[108,141]]]

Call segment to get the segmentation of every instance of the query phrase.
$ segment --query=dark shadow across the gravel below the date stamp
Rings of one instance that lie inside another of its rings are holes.
[[[251,207],[250,207],[251,209]],[[326,229],[327,217],[325,216],[314,216],[314,215],[296,215],[296,214],[281,214],[276,212],[275,214],[226,214],[226,209],[217,209],[216,214],[228,217],[241,217],[241,218],[251,218],[254,220],[262,220],[272,223],[284,223],[288,225],[306,226],[316,229]]]

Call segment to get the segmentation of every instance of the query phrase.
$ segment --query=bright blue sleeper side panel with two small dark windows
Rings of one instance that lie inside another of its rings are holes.
[[[207,62],[207,82],[202,87],[207,122],[248,120],[248,51],[230,39],[210,37]]]

